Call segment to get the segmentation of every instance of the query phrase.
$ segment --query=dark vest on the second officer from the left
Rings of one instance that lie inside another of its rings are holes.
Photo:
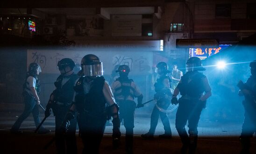
[[[64,83],[62,86],[62,80],[64,76],[60,75],[56,82],[54,82],[54,85],[56,87],[56,90],[54,91],[54,97],[56,98],[56,101],[64,103],[67,105],[67,103],[71,103],[74,95],[74,83],[78,79],[77,74],[71,74],[69,76],[66,76],[66,78],[69,78],[69,80]]]

